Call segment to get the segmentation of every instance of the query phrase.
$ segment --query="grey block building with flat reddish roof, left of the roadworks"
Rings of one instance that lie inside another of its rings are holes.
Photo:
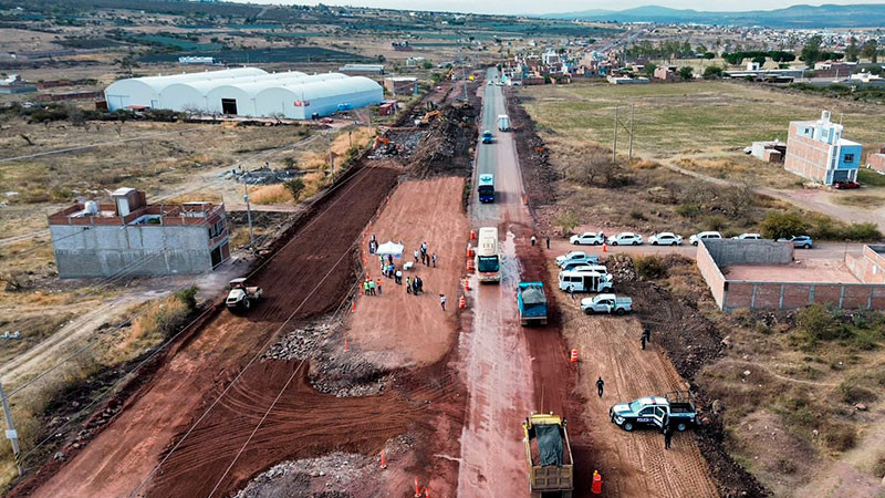
[[[147,204],[125,187],[111,197],[49,216],[59,277],[195,274],[230,258],[223,204]]]

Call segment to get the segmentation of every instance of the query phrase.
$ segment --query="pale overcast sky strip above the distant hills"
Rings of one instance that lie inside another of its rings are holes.
[[[233,0],[247,1],[247,0]],[[312,4],[324,3],[326,6],[360,6],[360,7],[381,7],[385,9],[400,10],[434,10],[450,12],[477,12],[477,13],[554,13],[574,12],[592,9],[623,10],[642,6],[660,6],[674,9],[696,9],[696,10],[771,10],[781,9],[794,4],[820,6],[823,3],[883,3],[885,0],[830,0],[824,2],[816,1],[795,1],[795,0],[740,0],[738,2],[710,2],[709,0],[555,0],[551,2],[539,2],[537,0],[323,0],[323,1],[287,1],[287,0],[248,0],[250,3],[298,3]],[[711,6],[710,3],[715,3]]]

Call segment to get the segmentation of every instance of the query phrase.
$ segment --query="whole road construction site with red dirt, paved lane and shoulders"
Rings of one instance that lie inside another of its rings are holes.
[[[553,253],[530,242],[525,196],[543,190],[539,176],[521,170],[511,133],[475,145],[506,113],[502,90],[479,81],[460,111],[448,93],[434,95],[442,117],[409,135],[408,162],[365,157],[299,214],[248,276],[263,289],[257,308],[233,314],[217,303],[108,402],[113,416],[11,495],[529,496],[521,424],[540,412],[568,418],[574,496],[595,496],[594,470],[603,496],[720,494],[690,433],[665,452],[656,432],[607,421],[616,402],[686,387],[659,335],[638,347],[643,326],[669,334],[673,324],[659,313],[583,317],[554,289]],[[470,185],[494,175],[494,204],[470,191],[465,207],[471,163]],[[472,274],[465,287],[469,234],[482,226],[499,230],[501,281]],[[381,274],[373,236],[405,246],[396,266],[413,262],[404,278],[420,277],[423,293]],[[435,267],[413,260],[421,242]],[[383,290],[367,295],[365,278]],[[527,280],[548,286],[546,325],[520,326],[513,295]],[[690,349],[690,338],[669,339],[684,340]]]

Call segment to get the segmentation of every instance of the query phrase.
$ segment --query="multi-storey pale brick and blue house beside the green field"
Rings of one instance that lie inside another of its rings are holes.
[[[842,138],[842,125],[824,111],[818,121],[790,123],[783,167],[824,185],[856,181],[861,149],[861,144]]]

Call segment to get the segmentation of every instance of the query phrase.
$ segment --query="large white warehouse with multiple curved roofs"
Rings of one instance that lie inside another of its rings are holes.
[[[119,80],[105,90],[105,98],[111,111],[145,106],[304,120],[381,103],[384,91],[364,76],[242,68]]]

